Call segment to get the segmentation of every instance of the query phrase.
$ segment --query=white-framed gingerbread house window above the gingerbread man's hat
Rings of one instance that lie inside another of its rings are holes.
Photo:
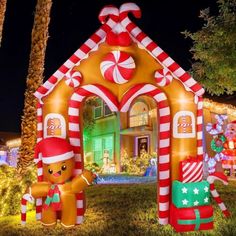
[[[66,138],[66,123],[62,115],[49,113],[44,119],[44,138],[60,137]]]

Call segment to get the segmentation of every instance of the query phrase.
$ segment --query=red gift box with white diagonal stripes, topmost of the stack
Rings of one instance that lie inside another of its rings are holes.
[[[203,179],[203,162],[195,157],[180,162],[179,181],[183,183],[200,182]]]

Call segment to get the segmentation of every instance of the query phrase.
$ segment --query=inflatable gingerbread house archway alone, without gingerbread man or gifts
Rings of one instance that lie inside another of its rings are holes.
[[[204,90],[129,19],[128,13],[141,17],[134,3],[119,9],[104,7],[99,14],[101,27],[35,92],[38,141],[54,136],[67,139],[76,154],[75,174],[80,174],[84,168],[84,101],[97,96],[113,114],[122,116],[137,98],[149,97],[157,111],[158,217],[165,225],[170,217],[172,182],[180,177],[180,162],[188,157],[202,159]],[[119,170],[117,153],[115,158]],[[199,181],[200,172],[195,168],[188,178]],[[40,163],[38,175],[40,179]],[[84,214],[83,193],[77,203],[79,224]]]

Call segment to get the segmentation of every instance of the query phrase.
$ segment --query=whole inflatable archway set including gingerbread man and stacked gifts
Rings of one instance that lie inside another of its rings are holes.
[[[43,205],[44,224],[54,225],[55,211],[61,207],[64,207],[61,218],[64,225],[82,223],[85,209],[82,190],[92,181],[91,173],[84,171],[81,115],[84,101],[89,96],[97,96],[119,117],[129,111],[139,96],[149,96],[157,107],[159,223],[170,223],[177,231],[211,229],[209,184],[202,180],[204,90],[129,19],[128,13],[141,17],[135,3],[122,4],[119,9],[111,5],[104,7],[99,14],[103,25],[35,92],[37,147],[54,139],[63,143],[68,140],[70,146],[66,144],[68,149],[55,153],[60,146],[58,141],[55,145],[46,145],[47,152],[44,148],[36,152],[42,153],[36,156],[38,183],[23,197],[23,208],[32,195],[38,198],[39,218]],[[120,150],[113,160],[118,171],[119,153]],[[193,157],[191,161],[189,157]],[[177,179],[182,182],[175,182]],[[70,203],[63,195],[67,186],[72,195]],[[189,197],[185,198],[187,193]],[[46,200],[42,202],[41,197]],[[179,198],[178,203],[175,198]],[[181,228],[176,227],[177,224]]]

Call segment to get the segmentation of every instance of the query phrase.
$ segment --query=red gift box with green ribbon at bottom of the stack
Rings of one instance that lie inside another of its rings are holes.
[[[212,229],[213,208],[212,206],[176,208],[171,204],[170,224],[177,232]]]

